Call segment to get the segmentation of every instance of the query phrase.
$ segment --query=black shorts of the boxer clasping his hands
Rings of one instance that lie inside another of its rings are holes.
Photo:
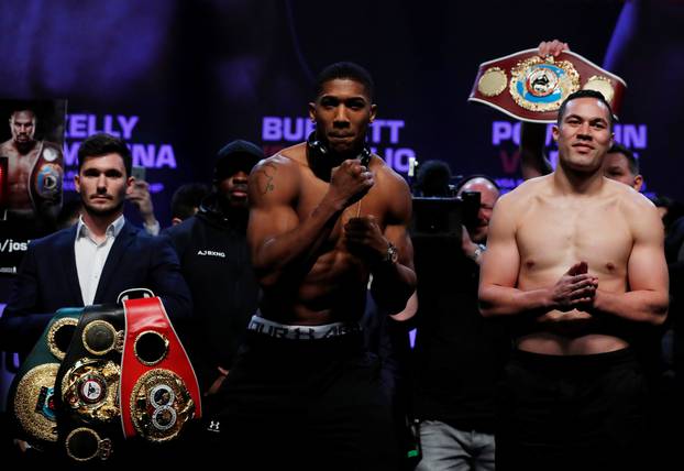
[[[515,350],[498,391],[497,470],[648,469],[647,383],[630,348]]]

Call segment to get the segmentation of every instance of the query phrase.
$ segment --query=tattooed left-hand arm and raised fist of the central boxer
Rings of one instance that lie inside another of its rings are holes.
[[[357,160],[333,168],[328,191],[308,215],[298,215],[296,199],[301,179],[298,163],[276,155],[261,162],[250,175],[247,242],[252,263],[264,287],[285,276],[296,283],[316,262],[338,218],[373,186],[373,176]]]

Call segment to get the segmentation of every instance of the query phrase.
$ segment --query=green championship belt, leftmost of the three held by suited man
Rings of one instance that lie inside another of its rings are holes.
[[[57,441],[55,380],[68,350],[82,308],[64,308],[43,331],[9,391],[18,438],[44,448]]]

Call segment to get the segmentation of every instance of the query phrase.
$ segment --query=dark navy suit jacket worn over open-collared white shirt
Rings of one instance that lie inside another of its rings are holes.
[[[0,350],[27,353],[62,307],[81,307],[74,242],[77,226],[32,241],[0,318]],[[191,315],[178,256],[165,238],[146,236],[125,222],[102,269],[93,304],[113,304],[129,288],[150,288],[172,320]]]

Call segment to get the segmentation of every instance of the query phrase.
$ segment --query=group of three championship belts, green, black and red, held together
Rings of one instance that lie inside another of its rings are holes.
[[[130,292],[117,306],[59,309],[16,374],[16,436],[42,454],[115,464],[201,417],[195,371],[162,300]]]

